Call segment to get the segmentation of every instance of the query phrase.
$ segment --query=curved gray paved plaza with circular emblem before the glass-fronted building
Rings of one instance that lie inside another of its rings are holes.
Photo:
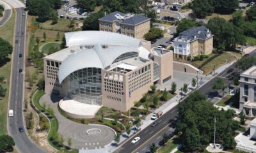
[[[54,109],[55,116],[59,122],[58,131],[63,135],[65,140],[72,138],[72,148],[75,149],[99,149],[109,145],[115,137],[113,129],[98,124],[80,124],[69,120],[58,111],[58,96],[45,94],[40,98],[40,104],[51,105]],[[91,130],[90,130],[91,129]],[[88,131],[89,130],[89,131]],[[67,142],[65,142],[67,145]]]

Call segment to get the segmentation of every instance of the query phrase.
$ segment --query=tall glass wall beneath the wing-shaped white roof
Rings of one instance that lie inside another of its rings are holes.
[[[102,105],[101,69],[84,68],[71,73],[68,98],[90,105]]]

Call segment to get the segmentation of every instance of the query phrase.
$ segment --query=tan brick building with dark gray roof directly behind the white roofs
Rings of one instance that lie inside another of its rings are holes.
[[[99,18],[99,30],[120,33],[142,40],[144,34],[150,30],[150,18],[115,11]]]

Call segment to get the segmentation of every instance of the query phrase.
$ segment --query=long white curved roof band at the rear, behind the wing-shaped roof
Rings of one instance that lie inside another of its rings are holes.
[[[139,47],[140,40],[125,36],[124,34],[110,33],[106,31],[77,31],[65,33],[67,47],[77,45],[120,45]]]

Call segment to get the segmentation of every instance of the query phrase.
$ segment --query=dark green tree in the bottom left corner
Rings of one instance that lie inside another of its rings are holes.
[[[12,152],[15,142],[11,136],[0,136],[0,152]]]

